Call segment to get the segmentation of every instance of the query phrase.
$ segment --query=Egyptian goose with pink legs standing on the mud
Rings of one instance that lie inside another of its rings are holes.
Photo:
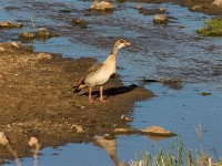
[[[100,85],[100,102],[108,102],[102,95],[103,84],[107,83],[117,71],[115,61],[118,50],[129,45],[130,43],[128,41],[123,39],[118,40],[107,60],[102,64],[93,64],[90,66],[88,72],[79,79],[77,85],[74,85],[74,92],[78,93],[82,89],[89,86],[89,101],[92,102],[92,86]]]

